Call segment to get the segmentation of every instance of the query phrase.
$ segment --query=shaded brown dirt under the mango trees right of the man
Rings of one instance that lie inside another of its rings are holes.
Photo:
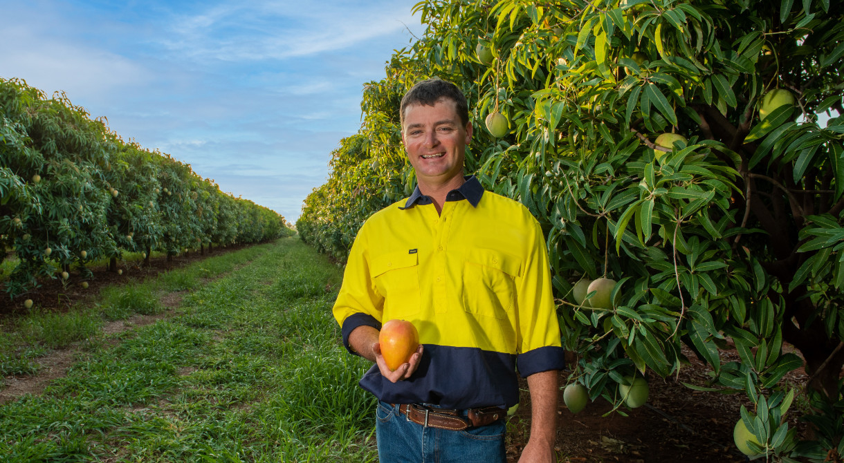
[[[682,383],[706,385],[709,367],[684,350],[691,364],[680,370],[679,378],[663,380],[651,375],[647,404],[628,417],[613,413],[603,399],[588,403],[577,414],[569,412],[560,390],[557,450],[560,463],[662,463],[666,461],[747,461],[733,444],[733,427],[740,417],[740,406],[749,406],[744,394],[723,395],[717,392],[690,390]],[[734,351],[722,352],[722,362],[738,360]],[[560,374],[560,385],[567,383],[571,371]],[[807,380],[803,369],[787,375],[787,381],[802,385]],[[527,383],[522,384],[522,406],[517,417],[527,420]],[[797,402],[799,399],[795,399]],[[795,417],[796,406],[789,413],[789,426],[805,430]],[[517,432],[508,439],[508,463],[515,463],[527,443],[527,423],[522,421]]]

